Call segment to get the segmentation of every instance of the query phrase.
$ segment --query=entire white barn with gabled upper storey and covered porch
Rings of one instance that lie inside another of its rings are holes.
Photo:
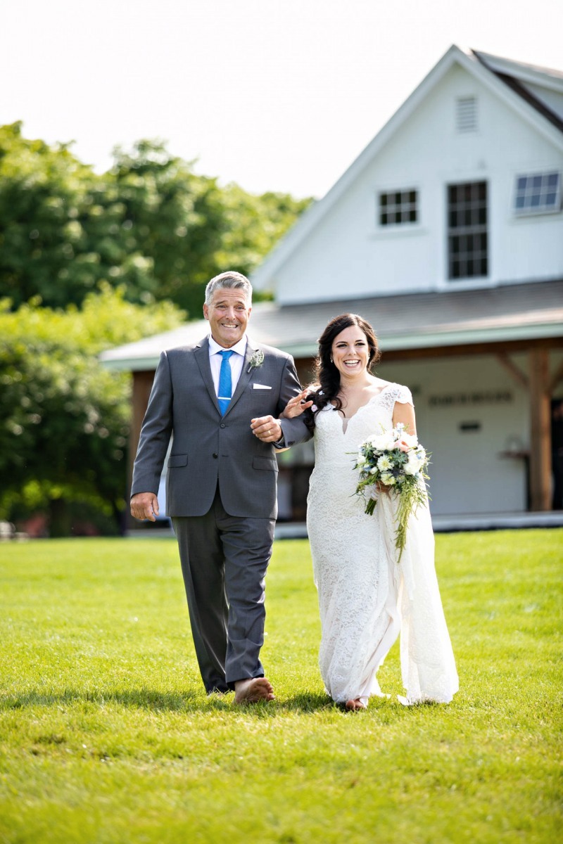
[[[274,294],[252,336],[303,381],[329,318],[374,325],[378,372],[412,388],[434,454],[434,515],[563,506],[562,180],[563,73],[452,46],[252,278]],[[160,349],[205,333],[103,355],[135,373],[133,447]],[[280,458],[286,517],[304,515],[311,463]]]

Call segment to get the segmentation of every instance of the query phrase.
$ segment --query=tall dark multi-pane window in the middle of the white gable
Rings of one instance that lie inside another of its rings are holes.
[[[475,279],[488,273],[487,183],[447,186],[447,277]]]

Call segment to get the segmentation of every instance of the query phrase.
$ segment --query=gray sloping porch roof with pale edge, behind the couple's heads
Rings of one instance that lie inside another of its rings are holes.
[[[262,302],[252,308],[249,334],[257,343],[284,349],[295,358],[312,357],[328,321],[348,312],[371,322],[384,353],[563,337],[563,279],[306,305]],[[154,370],[163,349],[197,343],[208,331],[205,320],[187,322],[174,331],[108,349],[100,360],[112,370]]]

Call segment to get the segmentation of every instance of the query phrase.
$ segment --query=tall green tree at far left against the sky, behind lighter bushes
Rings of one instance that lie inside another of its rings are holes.
[[[107,279],[127,299],[157,287],[153,262],[127,230],[126,208],[104,176],[68,149],[0,128],[0,295],[18,307],[80,304]]]

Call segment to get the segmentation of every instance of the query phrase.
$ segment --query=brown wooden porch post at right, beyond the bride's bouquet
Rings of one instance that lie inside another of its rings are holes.
[[[549,349],[530,353],[530,509],[551,509],[551,405]]]

